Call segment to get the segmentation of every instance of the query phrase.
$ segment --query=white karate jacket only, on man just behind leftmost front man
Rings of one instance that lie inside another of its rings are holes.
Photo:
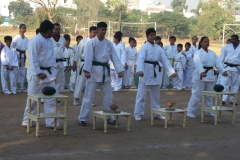
[[[53,37],[51,38],[51,40],[53,43],[54,57],[63,58],[63,53],[65,50],[65,44],[66,44],[65,39],[62,36],[60,36],[58,42],[56,42]],[[60,68],[63,68],[64,66],[63,62],[58,62],[57,66],[59,66]]]

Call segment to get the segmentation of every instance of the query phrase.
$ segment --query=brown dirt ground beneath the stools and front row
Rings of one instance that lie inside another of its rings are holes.
[[[231,113],[223,112],[222,121],[213,125],[213,118],[205,116],[187,118],[182,125],[182,115],[174,114],[172,124],[164,129],[163,120],[150,125],[150,97],[148,94],[146,113],[141,122],[131,119],[131,131],[126,131],[126,118],[120,117],[119,128],[108,125],[103,133],[103,120],[97,119],[96,130],[92,129],[92,114],[86,127],[78,125],[80,106],[72,105],[72,93],[68,100],[68,134],[54,132],[40,123],[40,136],[35,137],[35,128],[26,133],[21,121],[26,102],[26,93],[5,95],[0,93],[0,160],[28,159],[116,159],[116,160],[238,160],[240,153],[240,112],[236,113],[235,125],[231,124]],[[177,108],[186,108],[190,91],[161,91],[162,107],[176,102]],[[114,103],[120,110],[133,113],[135,91],[113,93]],[[92,110],[103,110],[100,92],[96,92]],[[199,104],[200,105],[200,104]],[[63,107],[60,107],[63,108]],[[62,112],[62,110],[60,110]]]

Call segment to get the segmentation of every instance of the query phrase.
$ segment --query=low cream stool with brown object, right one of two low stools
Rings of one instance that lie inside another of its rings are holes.
[[[171,123],[173,113],[183,114],[183,127],[185,127],[187,111],[183,109],[175,109],[175,110],[165,110],[165,108],[151,109],[151,125],[153,125],[154,114],[161,114],[165,116],[164,128],[167,128],[167,124]]]

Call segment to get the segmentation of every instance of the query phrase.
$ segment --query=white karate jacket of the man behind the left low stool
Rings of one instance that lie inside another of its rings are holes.
[[[88,80],[91,82],[102,82],[103,73],[105,73],[105,82],[111,81],[107,68],[105,67],[105,70],[103,70],[102,66],[94,66],[92,65],[93,61],[108,63],[111,59],[117,73],[124,71],[122,63],[117,56],[112,42],[106,38],[104,38],[102,41],[99,41],[97,36],[92,38],[87,43],[85,52],[87,54],[85,56],[83,70],[90,72],[91,78]]]

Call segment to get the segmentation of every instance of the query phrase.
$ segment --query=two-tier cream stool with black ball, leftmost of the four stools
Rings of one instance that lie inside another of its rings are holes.
[[[54,113],[40,113],[40,103],[41,99],[50,99],[54,98],[55,99],[55,108],[54,108]],[[57,118],[63,119],[63,130],[64,130],[64,135],[67,134],[67,98],[68,96],[64,96],[61,94],[54,94],[52,96],[45,96],[43,94],[28,94],[28,124],[27,124],[27,133],[29,133],[29,128],[30,128],[30,119],[33,121],[36,121],[36,137],[38,137],[38,131],[39,131],[39,119],[42,118],[54,118],[54,131],[56,131],[56,122]],[[58,99],[63,99],[64,100],[64,114],[59,114],[57,113],[58,109]],[[37,113],[32,114],[31,113],[31,101],[37,101]]]

